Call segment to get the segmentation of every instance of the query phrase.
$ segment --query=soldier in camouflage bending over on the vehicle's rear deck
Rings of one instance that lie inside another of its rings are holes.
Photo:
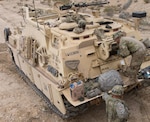
[[[123,37],[125,33],[119,31],[113,35],[113,39],[119,44],[119,55],[127,57],[132,55],[129,67],[126,67],[123,74],[130,79],[130,84],[137,81],[137,74],[145,57],[146,48],[144,44],[133,37]]]

